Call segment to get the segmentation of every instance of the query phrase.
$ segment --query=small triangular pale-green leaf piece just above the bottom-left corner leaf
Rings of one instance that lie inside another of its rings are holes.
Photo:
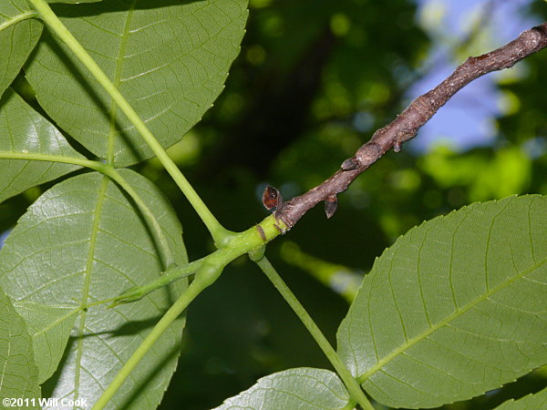
[[[36,302],[17,302],[15,308],[28,327],[38,367],[38,384],[42,384],[56,371],[77,315],[66,317],[73,307]]]

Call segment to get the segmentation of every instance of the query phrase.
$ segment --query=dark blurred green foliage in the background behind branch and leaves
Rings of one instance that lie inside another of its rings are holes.
[[[545,18],[547,7],[539,5],[526,12]],[[241,55],[224,92],[170,149],[227,228],[243,230],[266,215],[260,202],[266,182],[284,198],[309,190],[404,108],[431,46],[415,7],[407,0],[251,0]],[[506,109],[492,118],[491,147],[389,152],[339,196],[331,220],[317,207],[268,245],[274,266],[333,343],[350,297],[329,282],[335,272],[368,272],[397,236],[472,201],[547,194],[547,52],[520,67],[520,76],[499,77]],[[212,251],[207,231],[159,162],[134,168],[178,210],[190,258]],[[0,231],[37,194],[0,204]],[[162,409],[210,408],[265,374],[329,367],[283,299],[243,258],[191,305],[181,350]],[[492,408],[545,385],[545,371],[536,372],[447,408]]]

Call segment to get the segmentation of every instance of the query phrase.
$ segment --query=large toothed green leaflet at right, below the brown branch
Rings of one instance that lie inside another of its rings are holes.
[[[476,203],[408,231],[337,333],[384,405],[468,399],[547,363],[547,198]]]

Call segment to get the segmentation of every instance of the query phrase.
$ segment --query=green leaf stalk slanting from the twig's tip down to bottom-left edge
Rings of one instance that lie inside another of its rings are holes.
[[[160,338],[161,334],[163,334],[170,327],[170,324],[179,317],[179,315],[188,307],[190,302],[201,293],[201,291],[211,285],[212,282],[218,278],[222,272],[222,268],[221,271],[218,271],[216,268],[217,267],[215,267],[215,269],[200,271],[196,274],[196,278],[193,282],[191,282],[188,289],[182,293],[177,302],[173,303],[169,311],[167,311],[160,319],[160,322],[154,326],[148,336],[146,336],[142,343],[140,343],[135,353],[129,357],[129,360],[123,365],[119,373],[116,374],[114,380],[108,384],[107,389],[98,398],[98,401],[95,405],[93,405],[92,410],[99,410],[104,408],[105,405],[108,405],[108,402],[112,396],[116,394],[119,387],[121,387],[125,379],[129,376],[129,374],[131,374],[137,364],[139,364],[140,360],[142,360],[144,355]]]

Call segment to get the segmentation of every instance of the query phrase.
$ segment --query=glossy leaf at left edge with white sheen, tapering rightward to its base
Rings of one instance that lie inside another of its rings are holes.
[[[79,168],[58,162],[9,159],[13,153],[83,158],[57,128],[9,89],[0,99],[0,202]]]

